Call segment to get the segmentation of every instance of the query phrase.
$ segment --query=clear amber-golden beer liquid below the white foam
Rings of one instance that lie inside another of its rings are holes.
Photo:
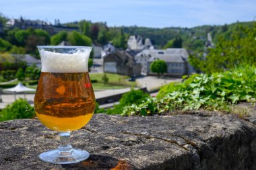
[[[59,132],[78,130],[92,118],[95,97],[88,73],[44,73],[34,98],[36,116]]]

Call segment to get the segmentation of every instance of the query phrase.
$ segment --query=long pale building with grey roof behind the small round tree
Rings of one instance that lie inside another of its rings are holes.
[[[167,73],[179,77],[193,73],[193,67],[188,62],[189,53],[185,48],[167,48],[166,50],[142,50],[135,56],[136,62],[141,63],[141,74],[151,74],[150,65],[154,60],[164,60]]]

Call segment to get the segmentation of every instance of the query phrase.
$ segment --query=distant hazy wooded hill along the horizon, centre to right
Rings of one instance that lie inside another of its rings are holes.
[[[207,33],[211,33],[214,43],[217,42],[218,36],[230,38],[232,32],[238,26],[251,27],[253,22],[236,22],[224,26],[197,26],[194,28],[146,28],[137,26],[109,27],[109,30],[117,31],[123,28],[126,34],[140,35],[143,38],[150,38],[157,48],[162,48],[169,40],[176,36],[183,39],[183,47],[192,51],[203,51],[207,40]]]

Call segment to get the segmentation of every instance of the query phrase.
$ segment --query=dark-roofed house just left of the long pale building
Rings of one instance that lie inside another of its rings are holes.
[[[104,73],[136,77],[141,73],[141,64],[135,62],[129,52],[117,50],[114,53],[106,54],[103,58],[103,71]]]

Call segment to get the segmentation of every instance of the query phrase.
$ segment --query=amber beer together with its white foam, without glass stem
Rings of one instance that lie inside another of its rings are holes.
[[[40,51],[42,73],[34,108],[48,128],[71,132],[86,125],[95,109],[95,96],[88,74],[88,57]]]

